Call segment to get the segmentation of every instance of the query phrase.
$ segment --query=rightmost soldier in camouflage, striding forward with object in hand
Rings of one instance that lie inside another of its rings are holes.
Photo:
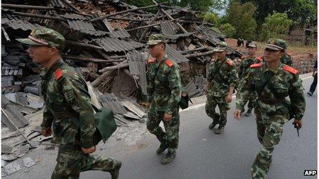
[[[252,64],[237,94],[234,118],[239,120],[241,109],[252,93],[259,97],[255,106],[257,136],[261,150],[252,165],[252,178],[265,178],[272,163],[272,152],[281,140],[284,124],[292,118],[301,128],[305,112],[303,83],[298,71],[280,62],[285,41],[270,39],[265,47],[265,62]],[[289,99],[285,99],[288,97]]]

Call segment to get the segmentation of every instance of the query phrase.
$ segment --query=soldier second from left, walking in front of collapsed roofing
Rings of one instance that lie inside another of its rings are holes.
[[[179,101],[181,99],[181,77],[179,66],[165,53],[165,37],[153,34],[148,38],[148,49],[153,58],[147,61],[148,119],[147,129],[161,143],[157,154],[168,152],[161,163],[170,163],[176,156],[179,132]],[[165,132],[159,126],[163,121]]]

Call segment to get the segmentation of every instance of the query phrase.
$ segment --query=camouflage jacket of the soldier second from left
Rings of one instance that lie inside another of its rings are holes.
[[[151,110],[165,111],[172,114],[181,99],[181,77],[179,66],[165,55],[162,62],[155,58],[147,61],[147,99],[151,102]]]

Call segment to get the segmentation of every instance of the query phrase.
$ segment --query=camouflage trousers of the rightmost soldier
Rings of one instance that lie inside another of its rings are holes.
[[[283,109],[283,108],[282,108]],[[257,104],[255,108],[257,136],[261,150],[257,154],[251,168],[252,178],[265,178],[272,163],[274,147],[281,141],[283,126],[288,121],[288,110],[277,110],[270,116],[264,108]]]

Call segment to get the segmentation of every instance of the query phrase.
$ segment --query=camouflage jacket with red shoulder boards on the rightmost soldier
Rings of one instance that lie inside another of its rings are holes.
[[[274,73],[270,78],[269,84],[273,86],[273,91],[270,90],[269,86],[265,86],[267,73]],[[237,93],[236,97],[236,108],[241,109],[245,106],[252,93],[256,91],[259,94],[259,98],[267,100],[276,100],[278,96],[285,100],[288,104],[292,104],[292,110],[296,115],[296,120],[301,120],[305,113],[305,96],[303,82],[299,79],[298,71],[292,67],[289,67],[281,62],[278,63],[276,69],[267,69],[265,62],[262,64],[252,64],[248,70],[248,74],[241,84],[242,88]],[[265,86],[265,88],[263,88]],[[290,102],[286,97],[289,97]],[[285,99],[286,98],[286,99]],[[265,104],[258,101],[257,105],[260,108],[255,110],[262,110],[267,115],[270,114],[283,114],[288,111],[285,102],[278,102],[276,104]]]

